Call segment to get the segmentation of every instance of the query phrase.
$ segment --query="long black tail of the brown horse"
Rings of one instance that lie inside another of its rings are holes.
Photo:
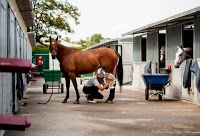
[[[117,71],[117,78],[118,78],[118,81],[119,81],[119,85],[120,85],[120,91],[121,91],[121,86],[123,84],[123,64],[122,64],[122,56],[118,53],[118,52],[115,52],[119,58],[118,60],[118,64],[117,64],[117,67],[116,67],[116,71]]]

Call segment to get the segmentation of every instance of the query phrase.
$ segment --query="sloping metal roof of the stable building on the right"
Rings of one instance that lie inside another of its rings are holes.
[[[187,22],[189,20],[193,20],[199,17],[200,17],[200,6],[188,11],[182,12],[180,14],[168,17],[166,19],[160,20],[158,22],[151,23],[141,28],[129,31],[127,33],[122,34],[122,36],[159,31],[162,29],[166,29],[167,27],[174,26],[182,22]]]

